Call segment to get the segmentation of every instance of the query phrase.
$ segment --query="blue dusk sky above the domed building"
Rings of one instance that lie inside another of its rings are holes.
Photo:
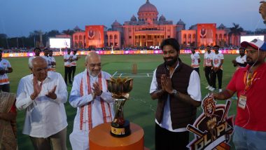
[[[197,23],[223,23],[232,27],[232,22],[245,30],[265,28],[258,13],[260,0],[150,0],[174,24],[183,20],[186,29]],[[73,29],[78,25],[105,25],[118,20],[120,24],[137,17],[139,7],[146,0],[0,0],[0,34],[29,36],[29,32],[48,32],[57,29]]]

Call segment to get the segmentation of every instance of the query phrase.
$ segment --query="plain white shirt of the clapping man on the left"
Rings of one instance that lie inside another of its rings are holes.
[[[40,83],[38,81],[38,84]],[[52,100],[45,95],[55,86],[57,86],[55,90],[57,99]],[[20,80],[15,103],[19,110],[26,109],[23,134],[46,138],[66,128],[64,103],[67,101],[67,90],[61,74],[48,71],[41,93],[35,100],[30,98],[32,93],[34,93],[33,74],[30,74]]]

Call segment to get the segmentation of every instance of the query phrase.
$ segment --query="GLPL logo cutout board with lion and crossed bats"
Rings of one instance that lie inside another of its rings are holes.
[[[234,131],[233,117],[228,118],[230,104],[229,100],[226,104],[216,104],[209,95],[204,98],[203,113],[193,125],[187,126],[187,129],[195,135],[187,146],[189,149],[230,149],[228,143]]]

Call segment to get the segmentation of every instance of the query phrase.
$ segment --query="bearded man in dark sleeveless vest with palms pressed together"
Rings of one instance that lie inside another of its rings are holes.
[[[200,76],[179,59],[176,39],[165,39],[160,46],[164,63],[153,73],[151,98],[158,99],[155,114],[155,149],[187,149],[188,124],[193,124],[201,104]]]

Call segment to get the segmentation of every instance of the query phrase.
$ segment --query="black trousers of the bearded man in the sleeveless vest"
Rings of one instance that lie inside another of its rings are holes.
[[[155,123],[155,150],[188,149],[189,132],[171,132]]]

